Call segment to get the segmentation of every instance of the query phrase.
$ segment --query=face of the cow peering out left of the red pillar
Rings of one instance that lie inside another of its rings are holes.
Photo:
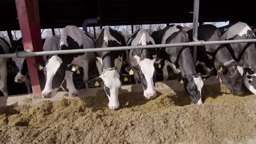
[[[11,62],[11,67],[15,68],[17,71],[17,74],[15,76],[14,81],[15,82],[25,82],[25,80],[27,79],[27,61],[25,57],[21,57],[21,58],[13,58],[12,62]]]

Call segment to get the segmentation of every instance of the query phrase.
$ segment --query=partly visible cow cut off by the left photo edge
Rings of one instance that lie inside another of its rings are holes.
[[[0,38],[0,54],[7,54],[10,51],[10,45],[3,38]],[[7,89],[7,58],[0,58],[0,91],[4,96],[8,96]]]

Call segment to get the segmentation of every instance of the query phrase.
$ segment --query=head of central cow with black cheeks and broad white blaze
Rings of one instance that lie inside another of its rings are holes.
[[[155,81],[156,81],[156,69],[159,68],[159,64],[163,60],[155,61],[155,59],[144,58],[139,61],[139,64],[135,67],[126,67],[125,70],[130,75],[133,73],[138,73],[141,79],[142,87],[144,89],[144,97],[147,99],[152,99],[156,96],[155,92]]]

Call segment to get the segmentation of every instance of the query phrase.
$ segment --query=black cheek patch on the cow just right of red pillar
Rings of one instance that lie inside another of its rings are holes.
[[[54,88],[59,88],[61,86],[62,82],[65,79],[66,70],[67,70],[67,66],[64,64],[61,64],[53,76],[51,88],[54,89]]]

